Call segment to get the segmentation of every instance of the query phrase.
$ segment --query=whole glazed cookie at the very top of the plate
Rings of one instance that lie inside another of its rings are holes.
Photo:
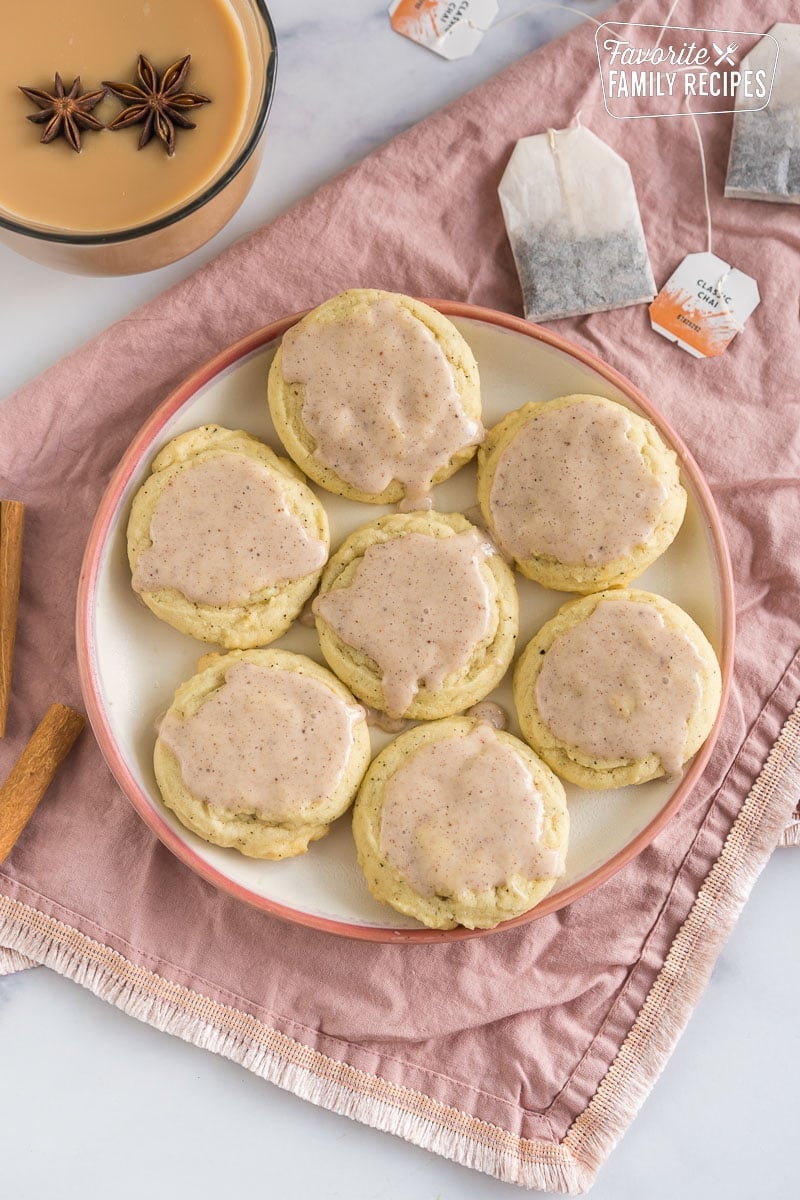
[[[456,326],[419,300],[354,288],[283,335],[270,412],[299,467],[367,504],[426,508],[483,438],[477,365]]]

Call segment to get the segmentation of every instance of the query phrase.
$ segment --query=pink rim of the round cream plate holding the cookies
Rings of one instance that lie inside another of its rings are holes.
[[[609,858],[608,862],[603,863],[602,866],[590,871],[589,875],[578,880],[570,887],[564,888],[563,892],[546,896],[536,908],[528,913],[523,913],[522,917],[517,917],[513,920],[504,922],[494,929],[473,930],[458,926],[449,930],[435,930],[426,928],[391,929],[371,925],[356,925],[349,922],[333,920],[332,918],[319,917],[313,913],[306,913],[290,908],[269,899],[267,896],[261,896],[251,892],[248,888],[242,887],[240,883],[234,882],[222,872],[217,871],[213,866],[200,858],[200,856],[197,854],[191,846],[184,842],[181,838],[169,827],[162,815],[152,806],[149,797],[139,787],[136,778],[122,757],[122,754],[120,752],[112,733],[103,706],[95,654],[94,630],[97,576],[103,550],[109,532],[113,528],[122,493],[128,484],[128,480],[131,479],[131,475],[139,466],[142,455],[152,445],[154,440],[158,436],[158,432],[163,428],[167,421],[169,421],[170,418],[184,404],[186,404],[200,388],[207,384],[210,379],[230,367],[233,364],[237,362],[240,359],[246,358],[254,350],[258,350],[278,337],[282,337],[287,329],[300,320],[303,313],[294,313],[290,317],[282,317],[279,320],[271,322],[269,325],[248,334],[233,346],[221,350],[219,354],[216,354],[212,359],[210,359],[210,361],[194,371],[173,392],[170,392],[170,395],[167,396],[167,398],[148,418],[122,456],[119,467],[114,472],[108,487],[106,488],[100,508],[97,509],[80,569],[76,612],[78,672],[86,704],[86,712],[103,757],[106,758],[106,762],[108,763],[118,784],[144,822],[150,827],[156,836],[182,863],[185,863],[186,866],[191,868],[209,883],[222,889],[223,892],[227,892],[229,895],[233,895],[237,900],[242,900],[246,904],[253,905],[264,912],[271,913],[273,917],[282,917],[283,919],[291,920],[295,924],[306,925],[311,929],[324,930],[329,934],[337,934],[343,937],[355,937],[369,942],[446,942],[461,941],[469,937],[482,937],[488,934],[501,932],[503,930],[511,929],[515,925],[525,924],[529,920],[536,920],[540,917],[546,917],[548,913],[555,912],[559,908],[565,907],[565,905],[571,904],[573,900],[577,900],[578,896],[585,895],[588,892],[600,887],[601,883],[604,883],[612,875],[615,875],[616,871],[625,866],[626,863],[640,853],[645,846],[654,840],[654,838],[661,832],[661,829],[663,829],[670,817],[680,808],[684,799],[699,779],[705,764],[709,761],[720,732],[720,725],[724,713],[733,673],[735,626],[733,572],[722,522],[709,486],[705,482],[699,467],[688,449],[684,445],[682,439],[675,433],[669,422],[622,374],[613,367],[607,366],[607,364],[596,358],[589,350],[584,350],[583,348],[572,344],[558,334],[553,334],[539,325],[523,320],[521,317],[512,317],[509,313],[498,312],[494,308],[483,308],[456,300],[426,300],[426,302],[432,305],[434,308],[438,308],[439,312],[444,313],[446,317],[462,317],[469,320],[479,320],[485,324],[499,326],[500,329],[511,330],[516,334],[522,334],[525,337],[531,337],[535,341],[543,342],[557,350],[561,350],[563,353],[570,355],[570,358],[576,359],[584,366],[590,367],[608,383],[618,388],[625,396],[632,400],[633,403],[637,404],[649,420],[651,420],[652,424],[660,430],[668,444],[670,444],[676,451],[681,461],[681,467],[690,478],[698,497],[708,524],[711,546],[716,559],[720,602],[722,607],[722,703],[720,706],[720,712],[714,724],[714,728],[692,761],[686,775],[680,781],[663,809],[661,809],[654,820],[645,826],[645,828],[637,834],[637,836],[633,838],[627,846],[618,851],[618,853]]]

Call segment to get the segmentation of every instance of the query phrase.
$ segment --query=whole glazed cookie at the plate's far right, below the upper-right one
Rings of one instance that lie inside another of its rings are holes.
[[[513,679],[525,740],[563,779],[599,790],[676,774],[711,732],[721,692],[692,618],[632,589],[565,604]]]

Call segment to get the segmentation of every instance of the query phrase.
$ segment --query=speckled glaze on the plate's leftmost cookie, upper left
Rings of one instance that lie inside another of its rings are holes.
[[[319,570],[327,547],[287,508],[270,470],[222,454],[186,467],[158,497],[152,545],[134,592],[175,588],[196,604],[242,604],[254,593]]]

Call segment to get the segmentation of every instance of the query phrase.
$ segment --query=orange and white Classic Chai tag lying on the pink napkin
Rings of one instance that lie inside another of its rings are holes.
[[[650,305],[650,325],[696,359],[729,346],[760,302],[750,275],[704,251],[687,254]]]

